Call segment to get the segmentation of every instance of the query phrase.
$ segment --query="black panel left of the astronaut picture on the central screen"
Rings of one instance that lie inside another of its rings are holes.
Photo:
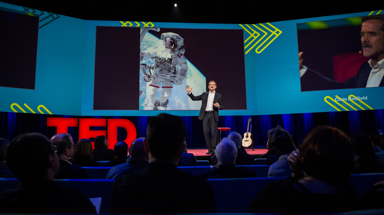
[[[140,28],[96,26],[94,110],[139,109]]]

